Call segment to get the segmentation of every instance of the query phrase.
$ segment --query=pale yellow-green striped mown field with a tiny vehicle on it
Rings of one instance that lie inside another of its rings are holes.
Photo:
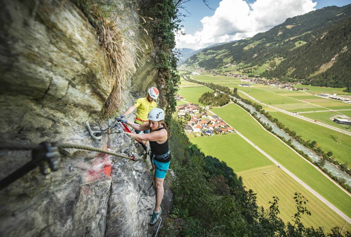
[[[266,174],[263,175],[263,172],[266,172]],[[237,172],[237,175],[243,178],[245,186],[257,193],[257,204],[263,206],[265,209],[269,208],[270,204],[268,202],[273,200],[272,196],[278,197],[280,210],[278,216],[285,223],[291,222],[291,216],[296,213],[296,203],[295,199],[293,199],[295,192],[301,193],[302,196],[309,200],[306,203],[306,208],[311,211],[311,216],[302,216],[302,222],[305,226],[313,226],[314,228],[323,226],[325,231],[329,231],[333,226],[342,226],[346,222],[276,165]],[[329,218],[326,219],[325,217]],[[350,230],[351,225],[347,223],[345,229]]]

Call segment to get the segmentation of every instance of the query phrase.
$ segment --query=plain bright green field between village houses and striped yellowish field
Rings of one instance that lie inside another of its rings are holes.
[[[234,172],[273,164],[236,133],[188,137],[191,143],[200,148],[205,155],[223,160]]]

